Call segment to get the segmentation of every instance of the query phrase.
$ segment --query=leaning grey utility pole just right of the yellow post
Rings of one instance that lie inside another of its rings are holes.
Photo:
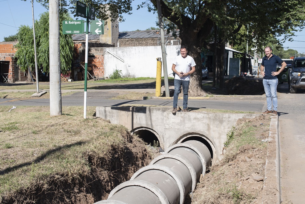
[[[167,76],[166,51],[165,51],[165,43],[164,43],[164,29],[163,29],[163,20],[162,20],[160,0],[157,0],[157,9],[158,9],[158,18],[159,18],[160,33],[161,33],[161,50],[162,50],[162,59],[163,59],[165,96],[170,97],[170,91],[169,91],[169,87],[168,87],[168,76]]]

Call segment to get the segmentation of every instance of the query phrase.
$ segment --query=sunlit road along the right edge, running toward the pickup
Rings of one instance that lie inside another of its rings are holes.
[[[278,85],[278,126],[282,203],[305,202],[305,90],[290,94]]]

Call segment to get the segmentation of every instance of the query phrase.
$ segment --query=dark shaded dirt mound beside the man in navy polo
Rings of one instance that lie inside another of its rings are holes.
[[[262,95],[265,93],[263,82],[234,76],[224,83],[229,95]]]

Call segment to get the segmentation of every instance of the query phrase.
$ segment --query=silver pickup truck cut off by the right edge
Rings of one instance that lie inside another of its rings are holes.
[[[288,68],[289,92],[295,94],[297,89],[305,89],[305,57],[294,58]]]

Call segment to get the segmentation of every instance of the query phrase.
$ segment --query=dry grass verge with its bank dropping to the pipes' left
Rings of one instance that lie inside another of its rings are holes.
[[[48,107],[10,108],[0,106],[0,203],[65,203],[84,193],[90,203],[151,157],[124,126],[96,118],[95,107],[87,119],[78,106],[57,117]]]

